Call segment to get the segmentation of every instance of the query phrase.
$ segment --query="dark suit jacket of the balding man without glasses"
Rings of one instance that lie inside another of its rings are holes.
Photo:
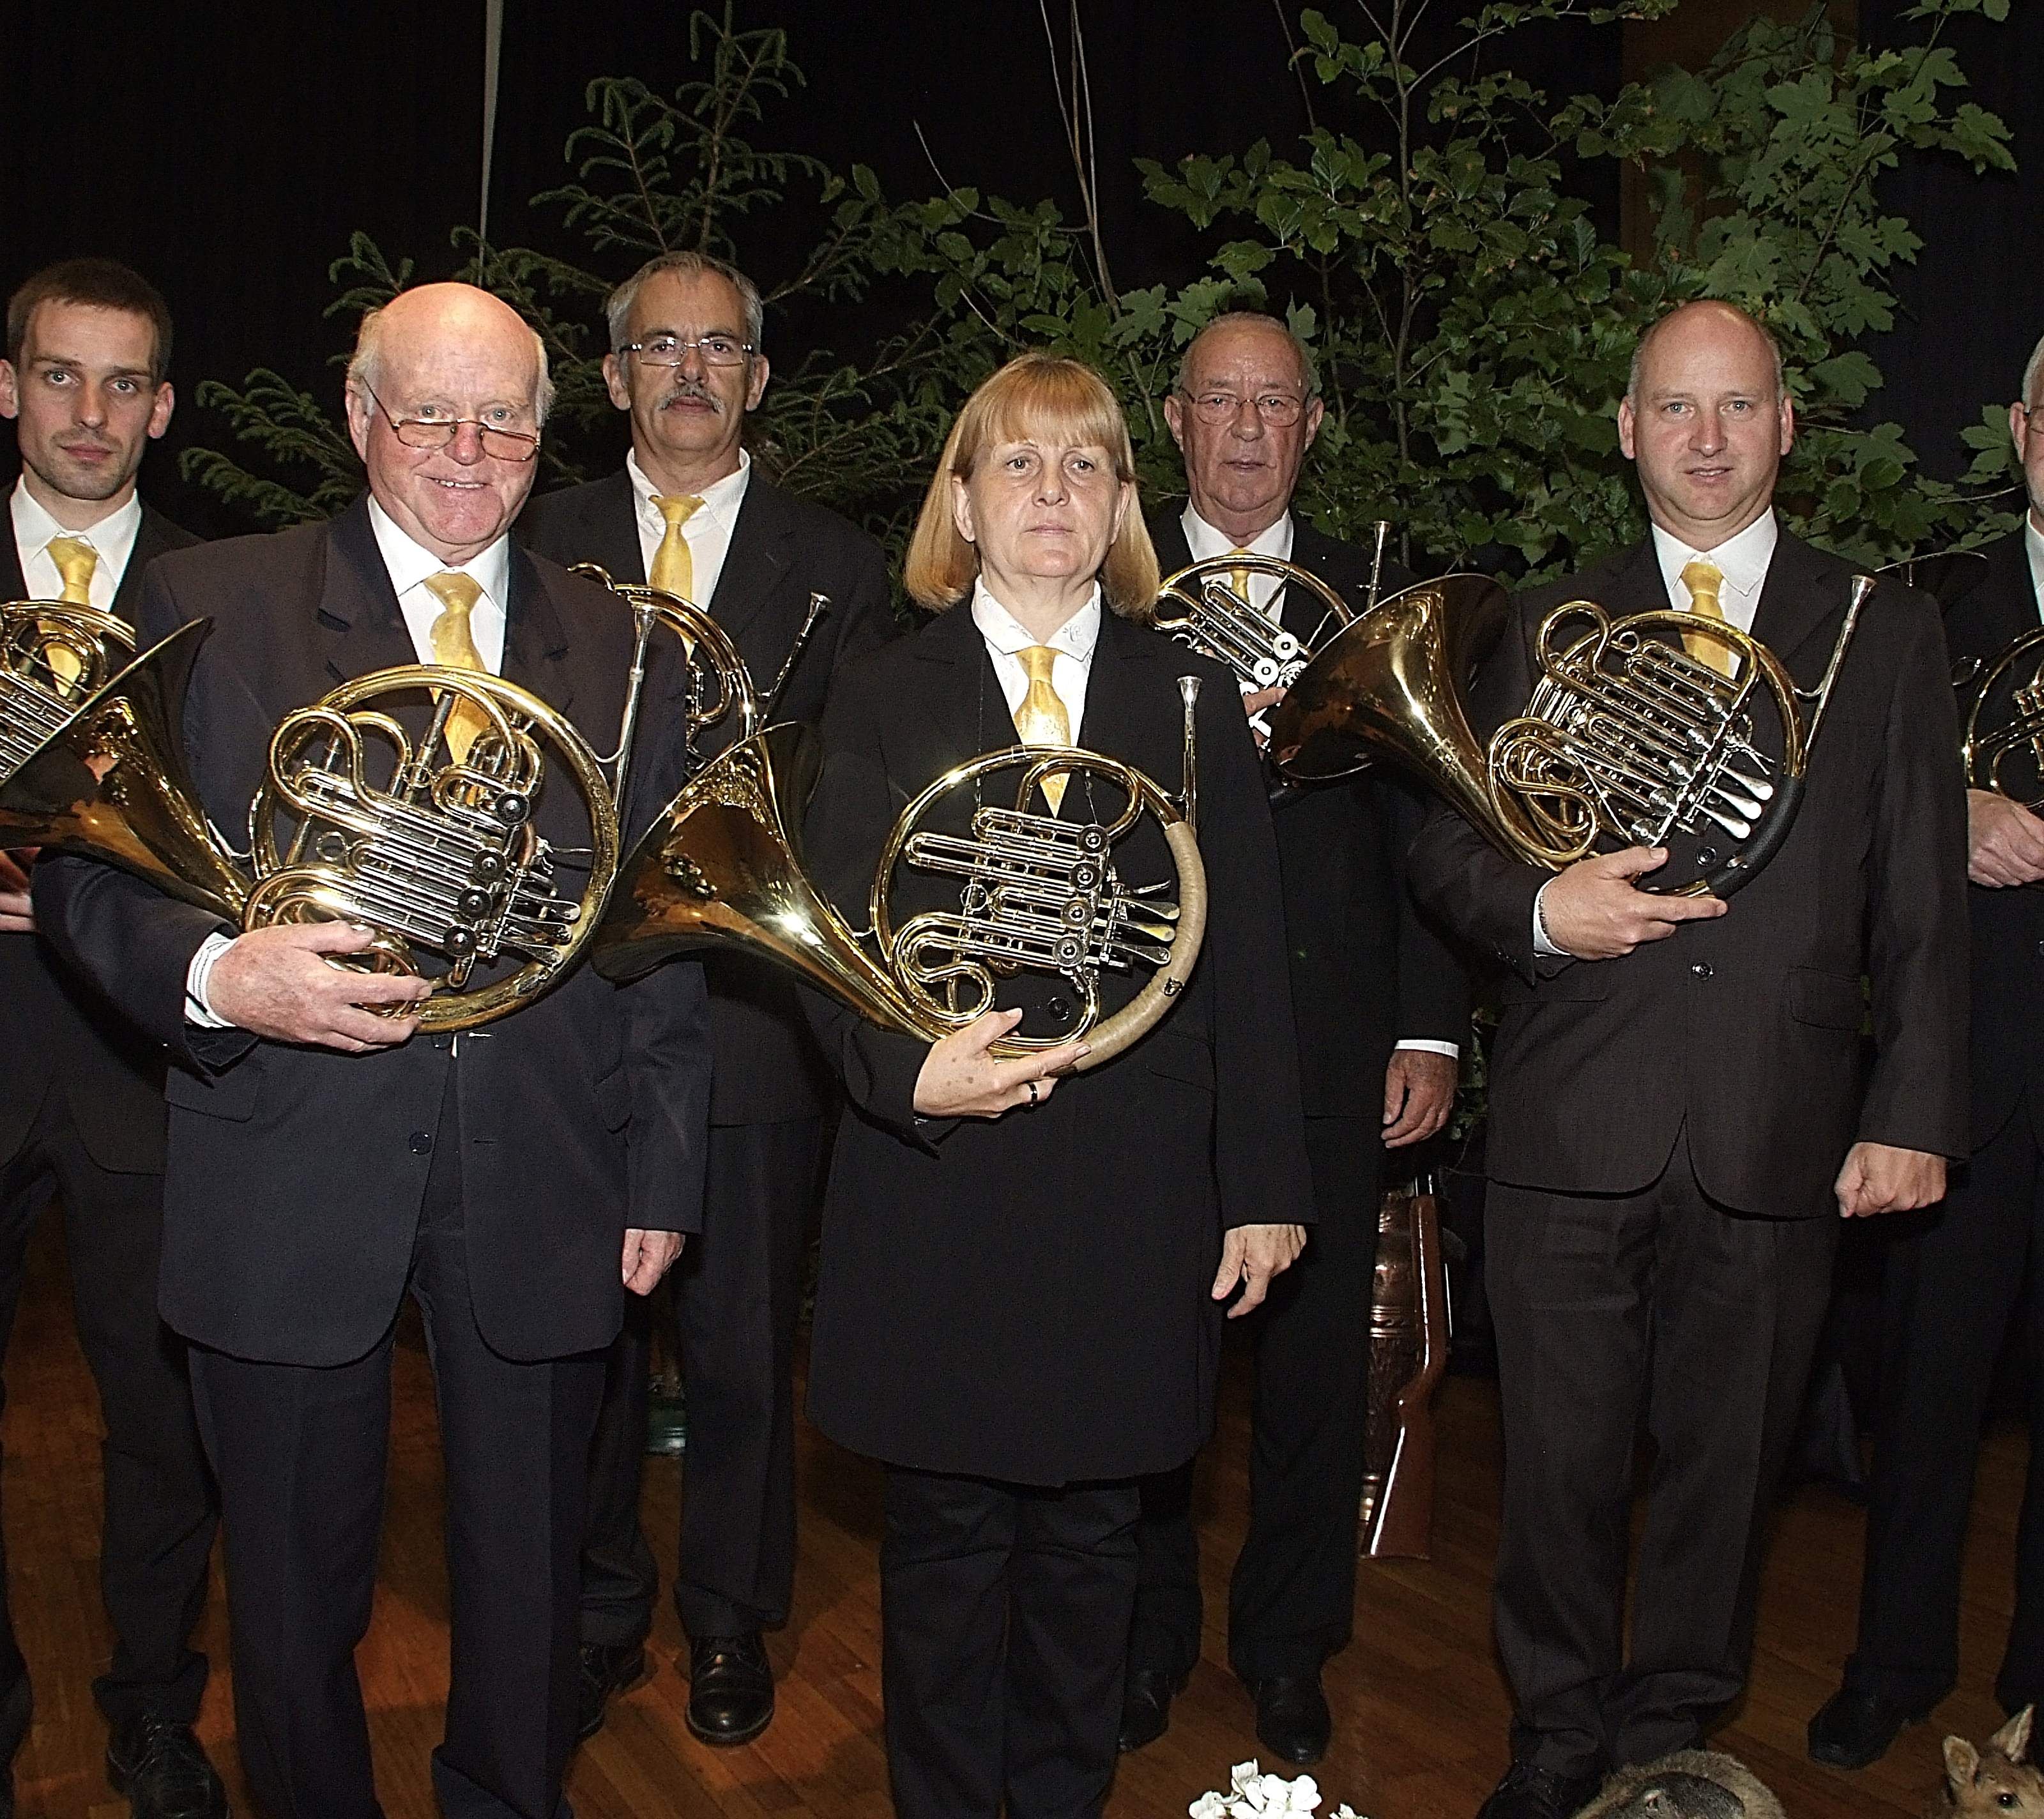
[[[1786,531],[1758,636],[1805,689],[1829,658],[1852,568]],[[1666,609],[1652,538],[1517,603],[1480,677],[1488,738],[1531,691],[1531,638],[1566,599]],[[1854,1140],[1966,1151],[1966,805],[1936,605],[1866,603],[1811,752],[1801,818],[1725,916],[1617,961],[1535,961],[1549,873],[1435,809],[1412,885],[1508,975],[1490,1055],[1488,1169],[1564,1194],[1635,1192],[1676,1136],[1741,1212],[1836,1216]],[[1860,1038],[1872,983],[1872,1057]]]

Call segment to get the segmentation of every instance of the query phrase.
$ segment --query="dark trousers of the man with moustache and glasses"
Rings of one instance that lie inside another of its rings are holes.
[[[675,1608],[691,1635],[787,1623],[795,1592],[795,1314],[824,1161],[820,1118],[713,1124],[703,1232],[668,1284],[689,1396]],[[640,1531],[654,1306],[611,1347],[589,1461],[583,1641],[652,1629],[660,1572]]]

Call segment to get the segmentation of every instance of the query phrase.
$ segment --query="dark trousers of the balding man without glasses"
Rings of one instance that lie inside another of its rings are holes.
[[[1641,1194],[1492,1181],[1484,1226],[1513,1754],[1586,1774],[1692,1747],[1746,1684],[1766,1512],[1823,1324],[1838,1214],[1727,1212],[1678,1140]],[[1641,1422],[1656,1457],[1627,1649]]]

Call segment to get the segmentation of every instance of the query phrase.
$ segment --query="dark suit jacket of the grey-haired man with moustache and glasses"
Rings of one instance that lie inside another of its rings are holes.
[[[632,501],[619,468],[587,486],[533,499],[519,533],[556,562],[601,562],[617,580],[646,580]],[[881,546],[834,511],[783,493],[758,468],[746,482],[732,548],[709,599],[709,615],[732,634],[760,691],[773,687],[809,613],[809,595],[830,595],[801,662],[789,672],[775,719],[816,726],[838,664],[893,636]],[[730,742],[719,728],[711,750]],[[828,1071],[816,1053],[795,987],[744,954],[711,954],[709,1026],[715,1042],[713,1124],[814,1118],[826,1106]]]

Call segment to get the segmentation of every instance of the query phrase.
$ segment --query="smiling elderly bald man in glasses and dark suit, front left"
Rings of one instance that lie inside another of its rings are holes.
[[[368,497],[333,523],[151,568],[145,638],[213,621],[184,742],[217,826],[241,826],[286,711],[419,658],[499,672],[597,750],[613,742],[630,615],[509,540],[546,403],[544,352],[511,309],[466,284],[403,292],[364,319],[347,376]],[[640,822],[679,783],[658,740],[681,703],[672,640],[652,658],[628,791]],[[423,719],[421,705],[411,738]],[[486,764],[484,738],[456,717],[435,752]],[[558,764],[544,783],[536,832],[566,875],[589,811]],[[350,922],[235,934],[76,856],[39,867],[35,897],[176,1063],[161,1308],[192,1341],[221,1482],[235,1719],[258,1803],[376,1811],[354,1649],[409,1290],[448,1463],[452,1690],[433,1786],[458,1819],[558,1813],[603,1351],[623,1292],[652,1288],[699,1218],[701,971],[615,989],[583,967],[489,1028],[427,1036],[421,981],[329,965],[370,940]]]

